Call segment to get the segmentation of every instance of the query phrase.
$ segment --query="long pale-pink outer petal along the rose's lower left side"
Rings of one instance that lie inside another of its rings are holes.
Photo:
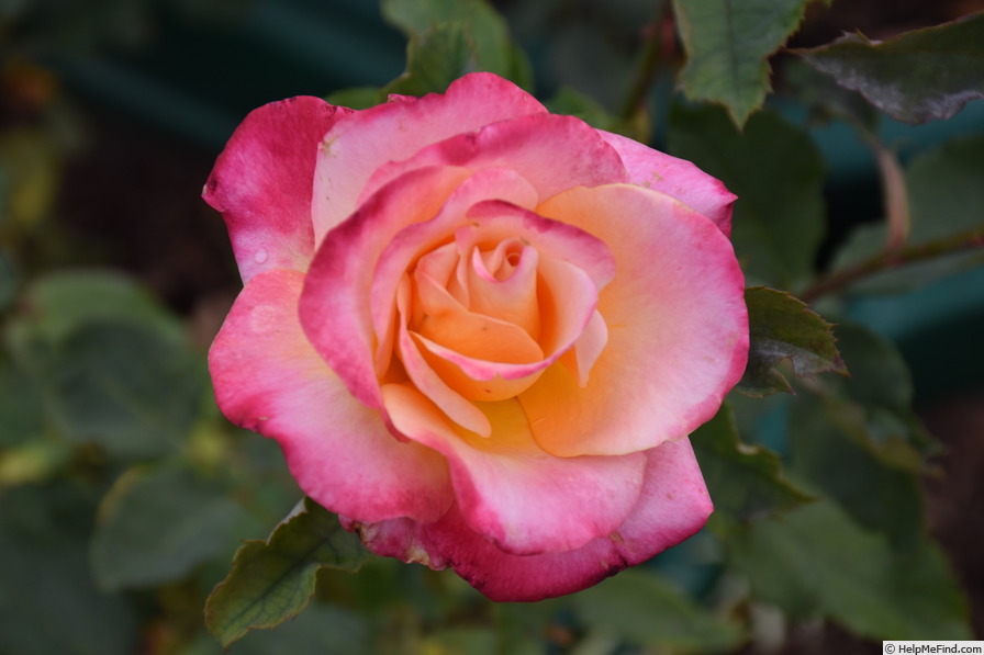
[[[239,294],[209,352],[219,406],[280,442],[298,484],[329,510],[436,520],[451,497],[444,458],[396,441],[311,347],[297,316],[303,280],[275,269]]]

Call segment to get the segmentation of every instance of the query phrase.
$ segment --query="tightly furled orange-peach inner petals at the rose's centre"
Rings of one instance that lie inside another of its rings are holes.
[[[485,434],[471,402],[516,397],[561,358],[583,384],[607,341],[596,305],[613,275],[590,234],[510,203],[476,204],[452,240],[406,269],[398,354],[426,397]]]

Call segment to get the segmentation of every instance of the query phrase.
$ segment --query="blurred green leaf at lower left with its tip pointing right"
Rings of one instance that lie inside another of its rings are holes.
[[[107,590],[167,583],[230,549],[246,524],[221,488],[186,468],[131,468],[103,498],[92,574]]]

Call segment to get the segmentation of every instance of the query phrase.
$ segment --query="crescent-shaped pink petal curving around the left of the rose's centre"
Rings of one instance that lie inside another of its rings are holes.
[[[326,235],[311,263],[300,302],[301,324],[353,395],[370,407],[381,406],[367,302],[376,261],[401,228],[437,214],[468,174],[463,169],[429,168],[394,180]],[[379,332],[387,345],[392,343],[394,297],[395,282],[387,307],[389,325]]]

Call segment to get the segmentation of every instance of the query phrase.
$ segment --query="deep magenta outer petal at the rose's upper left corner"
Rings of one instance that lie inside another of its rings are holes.
[[[291,98],[253,111],[233,133],[203,196],[225,218],[244,282],[273,268],[308,270],[317,146],[350,113],[320,98]]]

